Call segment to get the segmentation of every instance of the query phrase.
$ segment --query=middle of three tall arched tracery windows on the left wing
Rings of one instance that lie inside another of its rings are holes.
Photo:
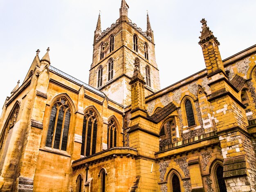
[[[98,123],[93,110],[88,110],[83,118],[81,155],[96,153]]]

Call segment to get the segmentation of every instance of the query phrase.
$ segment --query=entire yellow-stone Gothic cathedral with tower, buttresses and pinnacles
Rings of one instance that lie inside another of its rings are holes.
[[[161,90],[128,9],[99,15],[88,84],[36,51],[0,116],[0,191],[256,192],[256,45],[222,60],[202,19],[206,68]]]

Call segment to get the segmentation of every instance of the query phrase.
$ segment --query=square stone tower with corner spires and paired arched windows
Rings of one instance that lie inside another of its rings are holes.
[[[94,31],[93,58],[89,85],[104,92],[124,106],[131,104],[130,80],[137,64],[144,77],[145,96],[160,89],[159,70],[155,60],[155,44],[147,14],[146,32],[128,18],[129,6],[121,1],[119,19],[101,31],[99,15]]]

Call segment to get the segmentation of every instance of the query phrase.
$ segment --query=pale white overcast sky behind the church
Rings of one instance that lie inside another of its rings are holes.
[[[126,2],[128,17],[144,31],[148,10],[162,89],[205,68],[202,18],[220,42],[222,59],[256,44],[255,0]],[[52,66],[88,83],[99,10],[104,30],[119,18],[120,6],[121,0],[0,0],[0,112],[37,49],[42,58],[50,47]]]

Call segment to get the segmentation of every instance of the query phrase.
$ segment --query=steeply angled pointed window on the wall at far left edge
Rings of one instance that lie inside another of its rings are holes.
[[[0,154],[2,153],[2,147],[4,146],[4,143],[6,141],[9,129],[12,128],[13,125],[17,121],[19,111],[20,111],[20,105],[18,105],[18,103],[17,103],[15,105],[15,107],[13,107],[11,115],[9,116],[8,121],[4,125],[4,129],[2,129],[2,132],[1,132],[1,135],[0,135]]]

